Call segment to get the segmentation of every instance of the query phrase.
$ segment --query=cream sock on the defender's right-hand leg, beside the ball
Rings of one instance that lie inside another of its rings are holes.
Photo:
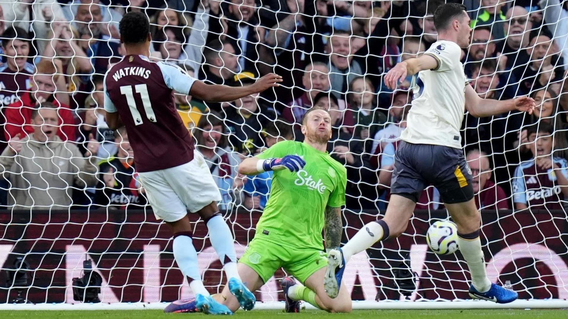
[[[458,236],[458,246],[467,262],[471,274],[471,284],[479,292],[486,292],[491,288],[491,281],[487,278],[485,259],[481,250],[481,240],[479,237],[468,240]]]

